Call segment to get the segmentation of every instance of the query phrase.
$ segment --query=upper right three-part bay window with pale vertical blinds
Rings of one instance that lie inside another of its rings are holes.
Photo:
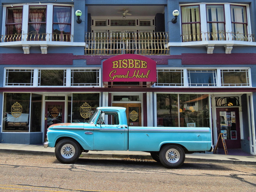
[[[182,42],[254,41],[247,20],[249,6],[241,4],[182,4]]]

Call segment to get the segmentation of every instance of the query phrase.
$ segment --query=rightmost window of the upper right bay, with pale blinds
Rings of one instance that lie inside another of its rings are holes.
[[[230,5],[232,35],[234,40],[247,41],[247,19],[244,6]]]

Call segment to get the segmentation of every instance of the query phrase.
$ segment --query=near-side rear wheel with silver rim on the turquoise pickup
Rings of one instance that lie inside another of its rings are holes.
[[[185,160],[185,152],[179,145],[165,145],[159,153],[159,159],[167,168],[178,168]]]

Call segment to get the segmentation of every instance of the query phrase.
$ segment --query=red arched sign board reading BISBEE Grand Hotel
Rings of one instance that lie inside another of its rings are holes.
[[[103,61],[103,82],[156,82],[156,62],[135,54],[124,54]]]

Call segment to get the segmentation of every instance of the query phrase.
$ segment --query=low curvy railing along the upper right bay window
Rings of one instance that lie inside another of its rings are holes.
[[[244,33],[233,33],[225,31],[217,31],[215,33],[210,32],[201,32],[196,34],[182,34],[182,42],[191,42],[191,41],[247,41],[255,42],[253,34],[244,34]]]

